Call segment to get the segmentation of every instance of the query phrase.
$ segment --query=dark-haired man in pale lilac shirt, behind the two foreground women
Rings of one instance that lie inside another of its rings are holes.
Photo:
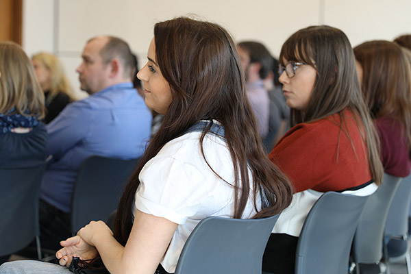
[[[238,43],[238,54],[247,82],[247,97],[256,116],[258,132],[264,138],[269,132],[270,99],[264,79],[271,69],[271,54],[259,42]]]

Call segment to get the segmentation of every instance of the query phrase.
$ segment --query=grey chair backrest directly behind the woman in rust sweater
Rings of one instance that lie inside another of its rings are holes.
[[[347,274],[351,243],[367,199],[325,192],[314,203],[297,243],[295,273]]]

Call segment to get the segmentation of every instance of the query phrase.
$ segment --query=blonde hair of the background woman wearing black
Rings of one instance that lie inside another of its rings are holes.
[[[32,55],[32,60],[40,62],[47,70],[51,72],[49,99],[52,100],[59,92],[63,92],[74,100],[74,92],[69,79],[67,79],[62,63],[55,55],[47,52],[40,52]]]

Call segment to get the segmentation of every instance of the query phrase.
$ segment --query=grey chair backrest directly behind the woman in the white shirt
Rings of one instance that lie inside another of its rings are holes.
[[[262,255],[278,216],[203,219],[188,237],[175,274],[261,274]]]

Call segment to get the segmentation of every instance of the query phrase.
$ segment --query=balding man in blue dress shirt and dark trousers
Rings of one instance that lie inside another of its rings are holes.
[[[50,160],[40,192],[42,247],[58,249],[60,240],[71,236],[73,184],[86,158],[128,160],[145,151],[151,112],[133,87],[132,58],[127,43],[112,36],[97,36],[84,47],[77,73],[90,97],[67,105],[47,125]]]

